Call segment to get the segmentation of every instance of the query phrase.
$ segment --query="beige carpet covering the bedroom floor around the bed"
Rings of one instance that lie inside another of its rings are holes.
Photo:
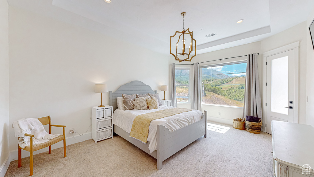
[[[219,124],[219,123],[216,123]],[[224,125],[224,124],[219,124]],[[224,125],[232,127],[230,125]],[[266,133],[251,134],[230,128],[225,134],[208,130],[201,137],[163,162],[118,135],[95,144],[86,140],[34,156],[33,176],[272,176],[272,142]],[[10,163],[5,177],[28,176],[29,157]]]

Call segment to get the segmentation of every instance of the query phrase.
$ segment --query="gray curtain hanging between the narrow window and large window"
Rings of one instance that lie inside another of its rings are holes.
[[[201,68],[199,63],[194,63],[193,68],[192,109],[202,111]]]

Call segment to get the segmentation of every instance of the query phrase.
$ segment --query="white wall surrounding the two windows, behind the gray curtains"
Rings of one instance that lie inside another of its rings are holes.
[[[236,47],[231,47],[227,49],[217,50],[213,52],[208,52],[204,54],[198,54],[196,57],[192,59],[192,62],[181,62],[183,64],[191,64],[195,62],[203,62],[203,61],[210,61],[210,60],[217,60],[222,58],[229,58],[229,57],[235,57],[235,56],[242,56],[246,54],[251,53],[259,53],[261,50],[261,42],[255,42],[255,43],[249,43],[245,45],[240,45]],[[263,69],[260,69],[259,65],[262,65],[262,57],[260,55],[257,55],[258,60],[258,72],[260,79],[262,79],[262,71]],[[170,57],[171,63],[175,62],[175,59],[173,56]],[[213,65],[218,63],[227,63],[227,62],[233,62],[233,61],[239,61],[239,60],[246,60],[247,57],[239,57],[239,58],[233,58],[233,59],[226,59],[226,60],[218,60],[213,62],[206,62],[201,63],[201,66],[206,65]],[[175,62],[178,63],[178,62]],[[180,63],[180,64],[181,64]],[[187,65],[177,65],[176,67],[189,67]],[[191,66],[191,77],[193,73],[193,67]],[[260,83],[260,87],[262,87],[262,83]],[[185,107],[185,108],[191,108],[190,103],[181,103],[178,104],[178,107]],[[243,116],[243,108],[237,108],[237,107],[230,107],[230,106],[214,106],[214,105],[205,105],[202,104],[202,111],[207,110],[208,111],[208,120],[221,122],[221,123],[227,123],[232,124],[232,120],[236,117],[242,117]],[[220,112],[220,116],[219,116]]]

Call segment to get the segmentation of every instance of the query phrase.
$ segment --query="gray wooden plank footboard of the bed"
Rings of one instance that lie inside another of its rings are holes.
[[[202,119],[198,122],[171,133],[165,126],[157,125],[157,169],[162,168],[164,160],[203,135],[207,137],[207,111],[204,111]]]

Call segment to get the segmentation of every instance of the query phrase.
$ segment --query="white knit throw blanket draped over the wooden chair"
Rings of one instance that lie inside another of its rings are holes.
[[[12,126],[15,137],[20,137],[18,142],[19,146],[23,149],[26,146],[30,146],[30,137],[25,136],[25,133],[34,135],[33,145],[45,143],[60,136],[60,134],[48,134],[38,118],[19,119],[13,122]]]

